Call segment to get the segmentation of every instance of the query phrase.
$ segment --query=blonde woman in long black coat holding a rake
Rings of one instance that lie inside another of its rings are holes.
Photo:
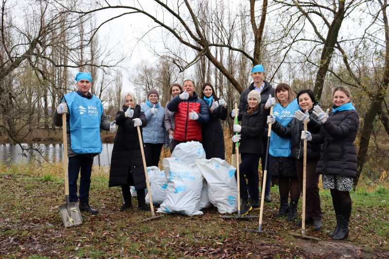
[[[137,191],[138,208],[150,210],[144,200],[146,177],[144,175],[141,146],[136,128],[139,126],[141,129],[146,126],[146,117],[141,111],[141,106],[136,104],[133,93],[124,92],[120,99],[121,108],[116,114],[116,124],[119,125],[119,128],[113,143],[109,187],[122,187],[124,204],[121,210],[132,207],[130,186],[135,186]]]

